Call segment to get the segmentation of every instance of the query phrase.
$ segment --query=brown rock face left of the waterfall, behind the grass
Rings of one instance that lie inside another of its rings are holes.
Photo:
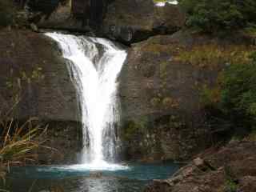
[[[43,34],[1,30],[0,39],[0,110],[5,113],[20,100],[10,117],[21,121],[38,118],[49,124],[49,134],[54,133],[46,145],[59,150],[63,158],[50,158],[46,151],[47,162],[63,162],[67,155],[73,158],[67,161],[74,162],[81,147],[81,124],[68,61],[57,44]]]

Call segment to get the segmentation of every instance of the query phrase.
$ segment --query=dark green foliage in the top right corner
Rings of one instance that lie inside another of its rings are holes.
[[[237,30],[256,23],[254,0],[180,0],[186,25],[203,32]]]

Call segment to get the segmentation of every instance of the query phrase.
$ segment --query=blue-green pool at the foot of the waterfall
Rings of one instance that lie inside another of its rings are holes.
[[[6,189],[14,192],[137,192],[152,179],[169,178],[180,166],[133,164],[121,170],[74,169],[74,166],[16,167],[8,175]]]

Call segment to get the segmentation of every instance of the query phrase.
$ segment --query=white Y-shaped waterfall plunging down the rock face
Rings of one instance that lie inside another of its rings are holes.
[[[103,38],[47,33],[70,60],[82,110],[83,149],[81,164],[102,167],[118,154],[118,74],[126,51]]]

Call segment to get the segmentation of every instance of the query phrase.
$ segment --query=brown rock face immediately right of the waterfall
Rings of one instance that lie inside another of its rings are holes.
[[[186,160],[210,144],[200,87],[214,84],[222,67],[175,60],[183,50],[209,41],[178,33],[132,46],[120,84],[126,158]]]

